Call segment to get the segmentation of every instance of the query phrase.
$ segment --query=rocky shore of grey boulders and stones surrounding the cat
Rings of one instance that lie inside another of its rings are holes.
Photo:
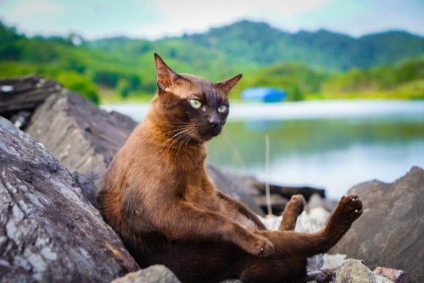
[[[136,122],[38,77],[0,80],[0,115],[0,282],[179,282],[160,265],[139,270],[95,209],[98,179]],[[208,171],[223,192],[264,215],[263,182]],[[363,216],[336,255],[310,259],[303,282],[423,282],[423,169],[351,191]],[[273,212],[298,193],[308,204],[296,230],[320,229],[335,204],[324,190],[271,185]],[[279,221],[264,219],[269,229]]]

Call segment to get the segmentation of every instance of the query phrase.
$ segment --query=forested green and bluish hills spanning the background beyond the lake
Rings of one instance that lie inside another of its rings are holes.
[[[96,103],[149,99],[156,88],[153,52],[177,71],[214,81],[245,74],[235,93],[275,86],[288,91],[291,100],[372,98],[376,92],[424,98],[424,38],[401,31],[355,38],[326,30],[286,33],[266,23],[240,21],[154,41],[87,41],[78,35],[27,37],[0,22],[0,77],[37,73]]]

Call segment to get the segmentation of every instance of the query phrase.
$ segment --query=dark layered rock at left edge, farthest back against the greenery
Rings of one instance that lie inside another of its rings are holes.
[[[33,112],[52,94],[63,88],[56,81],[46,81],[38,76],[24,76],[0,80],[0,115],[8,119],[20,112]]]

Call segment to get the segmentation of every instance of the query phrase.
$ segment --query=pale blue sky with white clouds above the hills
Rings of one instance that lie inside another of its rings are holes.
[[[424,0],[0,0],[0,21],[27,35],[156,39],[249,19],[291,32],[325,28],[358,37],[424,35]]]

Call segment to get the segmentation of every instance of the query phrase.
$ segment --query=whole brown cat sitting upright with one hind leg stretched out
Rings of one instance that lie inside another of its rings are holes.
[[[294,196],[278,231],[220,192],[206,173],[205,142],[228,116],[228,93],[242,75],[220,83],[177,74],[155,54],[158,94],[146,119],[107,168],[98,190],[105,221],[140,267],[163,264],[182,282],[281,282],[306,274],[306,258],[329,250],[362,214],[342,197],[325,229],[293,229],[305,200]]]

